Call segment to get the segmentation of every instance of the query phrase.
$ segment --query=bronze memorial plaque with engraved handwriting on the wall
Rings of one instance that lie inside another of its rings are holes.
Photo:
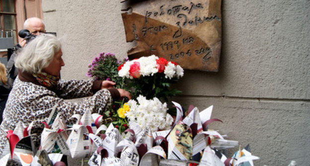
[[[221,0],[143,0],[122,13],[130,59],[155,54],[184,69],[218,71]],[[130,10],[128,10],[130,11]]]

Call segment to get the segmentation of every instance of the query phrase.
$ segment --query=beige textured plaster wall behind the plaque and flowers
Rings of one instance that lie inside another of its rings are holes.
[[[120,0],[43,0],[48,32],[63,38],[63,79],[86,79],[99,52],[119,58],[126,43]],[[310,0],[222,0],[222,54],[216,73],[185,71],[174,100],[214,105],[210,128],[248,143],[257,166],[310,163]],[[235,149],[230,150],[232,153]],[[73,164],[78,165],[78,163]]]

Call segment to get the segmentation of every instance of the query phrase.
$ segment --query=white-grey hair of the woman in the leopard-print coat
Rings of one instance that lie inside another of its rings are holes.
[[[52,62],[60,48],[61,43],[54,35],[42,34],[22,48],[15,60],[15,66],[30,74],[41,73],[42,69]]]

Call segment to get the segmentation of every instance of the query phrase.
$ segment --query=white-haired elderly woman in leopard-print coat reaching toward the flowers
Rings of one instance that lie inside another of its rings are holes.
[[[113,100],[122,97],[131,99],[124,89],[116,89],[110,81],[60,80],[59,74],[65,65],[60,41],[51,35],[41,35],[29,42],[15,61],[18,77],[8,96],[0,125],[0,156],[6,146],[5,131],[14,130],[18,122],[28,126],[34,122],[32,132],[40,134],[50,113],[55,107],[66,123],[74,114],[82,115],[89,109],[102,114]],[[86,97],[81,103],[64,99]],[[0,157],[1,158],[1,157]]]

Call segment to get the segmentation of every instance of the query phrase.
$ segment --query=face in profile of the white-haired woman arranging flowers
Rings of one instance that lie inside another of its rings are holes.
[[[52,62],[49,64],[48,67],[43,69],[43,72],[52,75],[52,76],[59,76],[60,70],[62,66],[65,66],[65,62],[62,58],[63,52],[59,49],[58,52],[55,53]]]

